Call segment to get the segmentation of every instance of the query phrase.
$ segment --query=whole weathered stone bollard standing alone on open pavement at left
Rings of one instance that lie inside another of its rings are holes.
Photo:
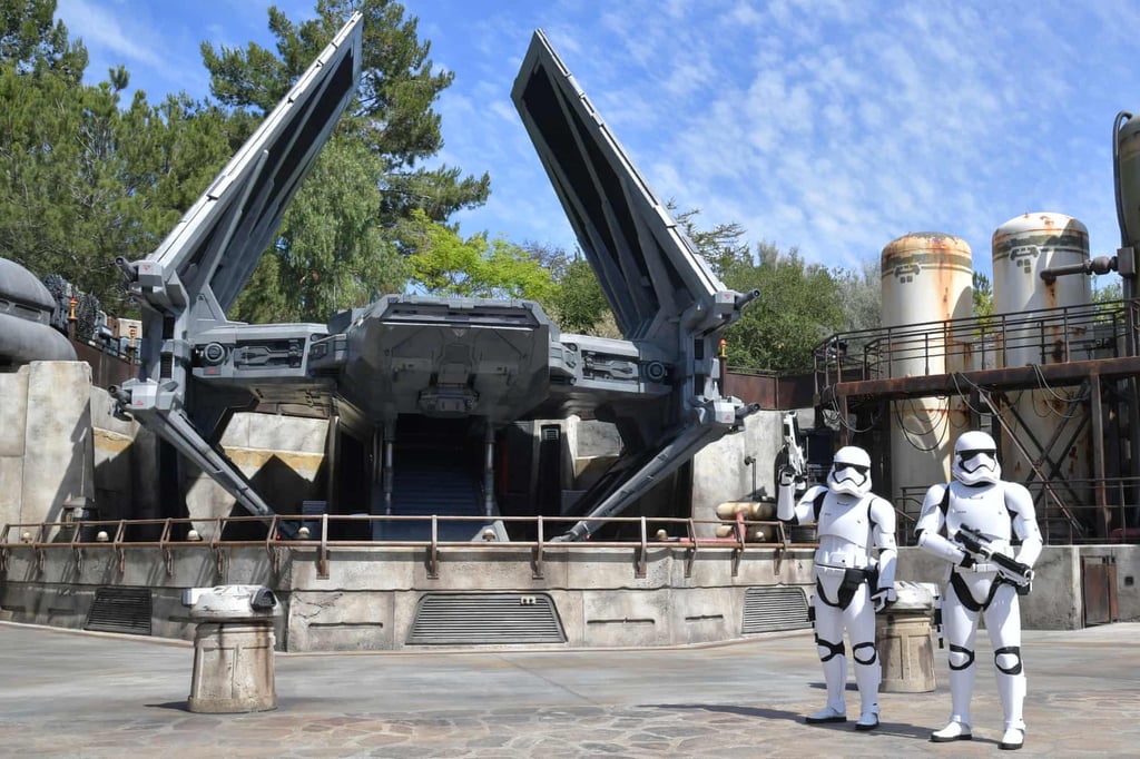
[[[277,708],[274,617],[277,597],[260,585],[187,588],[182,605],[198,620],[187,708],[234,713]]]

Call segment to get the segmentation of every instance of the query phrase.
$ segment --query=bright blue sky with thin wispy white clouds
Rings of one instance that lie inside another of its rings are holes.
[[[59,0],[90,81],[122,63],[152,101],[204,97],[198,44],[271,46],[261,0]],[[294,19],[314,0],[280,0]],[[542,27],[659,198],[752,243],[856,268],[917,231],[956,235],[991,271],[995,228],[1067,213],[1118,245],[1117,112],[1140,108],[1126,2],[409,0],[437,66],[440,160],[489,171],[461,231],[572,250],[511,103]]]

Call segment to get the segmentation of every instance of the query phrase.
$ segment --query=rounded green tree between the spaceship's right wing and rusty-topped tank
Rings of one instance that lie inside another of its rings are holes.
[[[724,276],[736,291],[760,295],[725,330],[728,365],[800,373],[812,369],[812,350],[844,326],[839,286],[831,272],[808,264],[793,247],[757,246],[759,263],[741,261]]]

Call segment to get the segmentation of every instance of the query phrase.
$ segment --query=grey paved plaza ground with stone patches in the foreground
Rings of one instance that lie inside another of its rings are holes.
[[[1135,756],[1138,638],[1140,623],[1026,632],[1029,732],[1009,756]],[[950,712],[944,651],[935,692],[881,694],[878,731],[804,725],[823,703],[807,632],[700,648],[277,654],[278,709],[246,715],[186,710],[193,653],[0,622],[0,754],[956,759],[996,754],[1001,732],[982,670],[975,740],[928,742]],[[978,661],[993,661],[988,644]]]

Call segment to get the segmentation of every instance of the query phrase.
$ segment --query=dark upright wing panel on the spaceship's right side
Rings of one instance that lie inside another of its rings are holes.
[[[512,97],[627,338],[724,285],[678,230],[585,92],[535,33]]]

